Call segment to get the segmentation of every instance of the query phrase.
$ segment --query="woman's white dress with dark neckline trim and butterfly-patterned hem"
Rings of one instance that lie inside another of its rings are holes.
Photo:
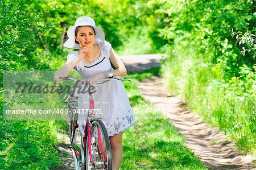
[[[80,61],[76,65],[76,70],[79,72],[82,80],[92,77],[97,73],[113,71],[114,69],[110,63],[110,49],[111,44],[105,41],[97,43],[101,50],[101,56],[91,63],[84,63]],[[68,54],[67,59],[74,60],[78,56],[78,52],[71,52]],[[94,110],[96,117],[101,118],[106,126],[109,136],[119,134],[135,123],[133,110],[131,109],[129,98],[127,97],[125,88],[122,81],[111,80],[104,84],[96,85],[97,92],[93,93]],[[86,125],[87,113],[89,108],[89,94],[79,94],[79,104],[77,110],[79,111],[79,127]],[[81,111],[82,110],[82,111]],[[84,114],[81,114],[81,113]]]

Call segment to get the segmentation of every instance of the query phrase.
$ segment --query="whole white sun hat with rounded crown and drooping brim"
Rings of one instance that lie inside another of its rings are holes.
[[[97,27],[93,18],[89,16],[80,16],[76,19],[75,26],[68,28],[68,40],[64,43],[64,47],[79,49],[80,45],[75,43],[75,31],[78,26],[91,26],[95,30],[95,40],[93,44],[98,42],[105,43],[105,34],[101,28]]]

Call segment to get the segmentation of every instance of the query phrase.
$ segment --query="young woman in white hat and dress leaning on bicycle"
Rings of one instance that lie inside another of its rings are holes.
[[[75,26],[68,29],[68,40],[64,47],[79,49],[68,54],[67,62],[55,72],[55,81],[61,81],[59,77],[65,77],[72,69],[76,69],[83,81],[93,84],[100,78],[110,75],[126,76],[126,68],[117,56],[112,45],[105,41],[105,34],[97,27],[89,16],[81,16],[75,22]],[[115,69],[112,68],[112,65]],[[109,90],[109,91],[106,91]],[[108,95],[106,95],[108,92]],[[99,85],[94,100],[98,109],[103,109],[104,122],[112,147],[113,169],[119,169],[122,161],[122,132],[135,123],[133,110],[129,98],[121,81],[109,81],[108,84]],[[78,109],[88,109],[88,95],[79,95]],[[107,103],[107,105],[106,105]],[[85,125],[86,115],[79,115],[80,129]]]

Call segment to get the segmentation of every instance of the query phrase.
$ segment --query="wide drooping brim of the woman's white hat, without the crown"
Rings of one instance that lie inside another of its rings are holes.
[[[81,25],[76,25],[68,28],[68,40],[63,44],[64,47],[73,48],[73,49],[80,48],[80,44],[75,43],[75,31],[76,31],[76,27],[79,27],[79,26],[90,26],[94,28],[96,36],[93,44],[96,44],[99,42],[105,43],[105,34],[100,27],[81,24]]]

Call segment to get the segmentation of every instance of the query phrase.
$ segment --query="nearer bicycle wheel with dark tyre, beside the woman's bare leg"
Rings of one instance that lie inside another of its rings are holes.
[[[86,169],[112,169],[112,152],[108,132],[102,121],[92,122],[92,134],[86,139]],[[92,153],[90,157],[90,153]]]

